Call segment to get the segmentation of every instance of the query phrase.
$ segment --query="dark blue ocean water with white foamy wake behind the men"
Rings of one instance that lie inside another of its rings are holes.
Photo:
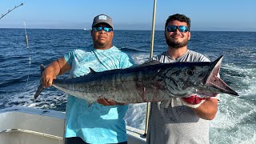
[[[26,106],[65,111],[66,94],[48,88],[34,102],[40,64],[92,43],[90,30],[0,29],[0,109]],[[155,31],[154,55],[167,50],[163,31]],[[151,31],[115,30],[114,45],[138,64],[150,57]],[[210,60],[224,55],[221,78],[239,97],[221,94],[210,122],[210,143],[256,143],[256,32],[192,31],[189,49]],[[62,77],[66,77],[63,75]],[[146,103],[129,106],[126,124],[145,129]]]

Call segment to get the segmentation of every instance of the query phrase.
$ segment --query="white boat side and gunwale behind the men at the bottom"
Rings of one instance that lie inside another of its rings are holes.
[[[11,107],[0,110],[1,144],[62,144],[65,113],[54,110]],[[143,130],[126,126],[128,143],[145,144]]]

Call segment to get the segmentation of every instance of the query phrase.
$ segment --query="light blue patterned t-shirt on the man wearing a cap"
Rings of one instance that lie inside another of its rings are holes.
[[[134,64],[132,58],[113,46],[96,50],[93,46],[72,50],[64,55],[72,69],[70,77],[113,69],[124,69]],[[100,96],[100,95],[99,95]],[[87,143],[118,143],[127,141],[124,116],[128,106],[102,106],[94,102],[68,96],[66,104],[66,138],[80,137]]]

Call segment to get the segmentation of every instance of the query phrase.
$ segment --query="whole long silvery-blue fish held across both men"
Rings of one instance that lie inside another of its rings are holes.
[[[102,96],[116,102],[160,102],[190,94],[206,98],[219,93],[238,95],[218,78],[222,56],[214,62],[147,62],[127,69],[95,72],[78,78],[55,79],[52,86],[90,104]],[[43,66],[41,66],[43,69]],[[38,87],[34,98],[43,90]]]

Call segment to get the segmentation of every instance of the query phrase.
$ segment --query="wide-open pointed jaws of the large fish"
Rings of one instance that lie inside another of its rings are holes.
[[[210,62],[209,74],[206,76],[204,84],[206,86],[214,87],[215,89],[217,89],[222,93],[238,96],[237,92],[232,90],[230,86],[228,86],[225,82],[222,81],[221,78],[218,78],[218,74],[221,68],[222,58],[223,58],[223,55],[218,59],[216,59],[214,62]]]

